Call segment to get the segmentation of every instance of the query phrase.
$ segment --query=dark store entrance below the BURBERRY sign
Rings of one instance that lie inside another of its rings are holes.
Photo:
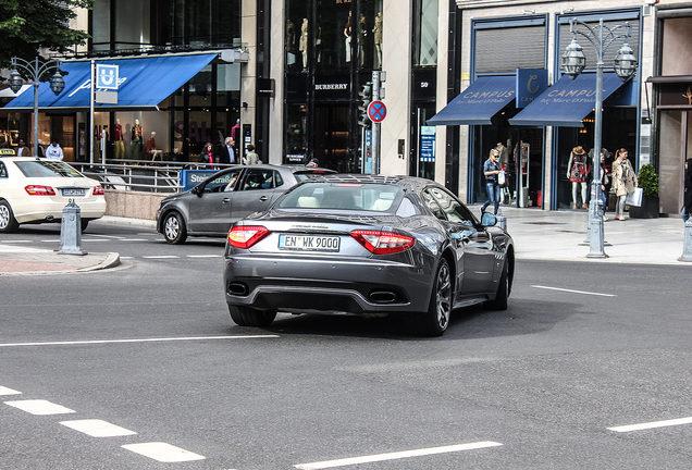
[[[348,104],[314,106],[313,157],[320,166],[348,173],[351,168]]]

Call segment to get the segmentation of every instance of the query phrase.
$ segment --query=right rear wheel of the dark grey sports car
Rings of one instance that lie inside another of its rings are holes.
[[[428,312],[423,317],[407,317],[409,333],[423,336],[442,336],[449,326],[452,316],[452,273],[446,259],[440,261],[433,282]]]

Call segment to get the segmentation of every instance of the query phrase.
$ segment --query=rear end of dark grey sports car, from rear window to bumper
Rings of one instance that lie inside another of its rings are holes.
[[[398,223],[401,200],[392,185],[298,186],[231,228],[226,302],[295,313],[427,311],[435,258]]]

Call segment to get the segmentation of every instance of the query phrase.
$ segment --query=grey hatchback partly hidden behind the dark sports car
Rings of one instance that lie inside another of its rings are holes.
[[[292,186],[333,170],[301,165],[235,165],[170,196],[157,210],[157,230],[170,244],[191,236],[225,237],[233,222],[265,210]]]

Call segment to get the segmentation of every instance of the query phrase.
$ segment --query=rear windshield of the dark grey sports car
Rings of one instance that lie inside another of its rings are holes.
[[[282,209],[346,209],[395,212],[404,191],[398,186],[354,183],[308,183],[279,203]]]

